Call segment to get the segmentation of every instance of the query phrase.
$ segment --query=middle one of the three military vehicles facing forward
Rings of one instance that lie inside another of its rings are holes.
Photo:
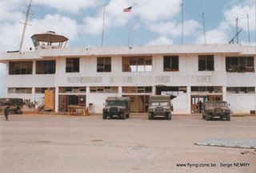
[[[148,109],[149,120],[155,116],[164,116],[166,120],[171,120],[171,112],[174,111],[173,104],[170,102],[170,96],[154,95],[150,96],[150,105]]]

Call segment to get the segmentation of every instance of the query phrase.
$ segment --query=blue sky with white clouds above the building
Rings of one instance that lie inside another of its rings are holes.
[[[29,2],[0,0],[0,53],[19,49],[24,27],[22,22],[25,22]],[[68,37],[66,47],[82,48],[227,44],[234,37],[238,26],[239,30],[242,29],[238,37],[239,44],[255,45],[255,2],[256,0],[33,0],[22,52],[34,49],[30,38],[34,33],[46,31]],[[124,13],[123,9],[129,6],[132,6],[130,13]],[[5,75],[6,66],[0,64],[0,96],[4,95]]]

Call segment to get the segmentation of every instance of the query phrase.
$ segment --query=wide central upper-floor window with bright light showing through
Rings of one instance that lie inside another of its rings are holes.
[[[152,72],[152,57],[122,57],[122,72]]]

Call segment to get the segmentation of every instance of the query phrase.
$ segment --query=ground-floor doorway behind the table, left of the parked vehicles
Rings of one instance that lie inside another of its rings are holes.
[[[59,95],[58,112],[67,112],[70,105],[86,106],[86,95]]]

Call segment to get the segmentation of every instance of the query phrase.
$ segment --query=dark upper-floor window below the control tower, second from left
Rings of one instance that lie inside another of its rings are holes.
[[[36,61],[36,74],[54,74],[55,61]]]

